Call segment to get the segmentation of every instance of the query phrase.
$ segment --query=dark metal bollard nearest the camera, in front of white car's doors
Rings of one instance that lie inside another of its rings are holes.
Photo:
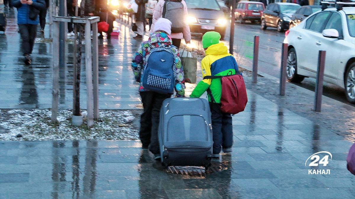
[[[316,112],[321,112],[321,108],[322,108],[325,62],[326,62],[326,51],[320,50],[318,53],[318,68],[317,68],[316,91],[315,91],[316,97],[314,103],[314,109],[316,110]]]

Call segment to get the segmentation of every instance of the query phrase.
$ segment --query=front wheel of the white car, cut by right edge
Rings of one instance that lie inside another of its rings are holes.
[[[355,104],[355,62],[350,64],[345,72],[344,87],[346,99]]]

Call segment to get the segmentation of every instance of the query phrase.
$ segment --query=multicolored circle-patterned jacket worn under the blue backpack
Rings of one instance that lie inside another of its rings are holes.
[[[184,70],[182,69],[182,64],[179,56],[179,50],[177,47],[171,45],[172,41],[168,34],[164,32],[154,32],[149,37],[148,41],[144,41],[140,48],[137,50],[135,55],[133,56],[133,60],[131,62],[131,67],[133,70],[133,74],[135,75],[136,81],[140,82],[141,85],[139,87],[139,91],[147,91],[142,86],[142,77],[143,77],[143,69],[144,66],[147,65],[146,58],[152,49],[157,47],[169,47],[171,51],[174,52],[175,56],[175,91],[176,96],[184,97],[185,95],[185,80],[184,80]]]

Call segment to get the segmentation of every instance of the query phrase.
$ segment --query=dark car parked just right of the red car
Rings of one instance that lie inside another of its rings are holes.
[[[267,6],[261,16],[261,29],[275,27],[278,32],[289,28],[293,13],[301,6],[293,3],[274,3]]]

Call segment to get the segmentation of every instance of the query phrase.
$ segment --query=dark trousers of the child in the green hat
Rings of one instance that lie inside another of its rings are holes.
[[[223,113],[220,104],[209,102],[211,108],[212,132],[213,132],[213,153],[220,153],[222,148],[229,148],[233,145],[232,116]]]

